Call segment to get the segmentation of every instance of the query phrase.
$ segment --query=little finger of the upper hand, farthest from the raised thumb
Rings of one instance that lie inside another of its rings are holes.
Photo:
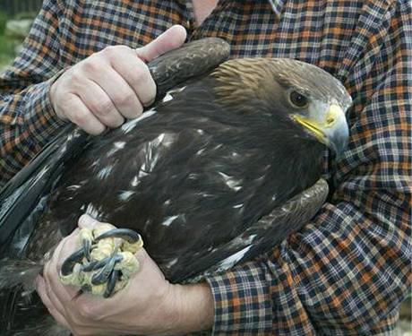
[[[67,95],[67,107],[64,108],[64,115],[67,119],[78,125],[88,134],[102,134],[106,130],[106,126],[91,113],[90,109],[82,102],[82,99],[73,93],[68,93]]]

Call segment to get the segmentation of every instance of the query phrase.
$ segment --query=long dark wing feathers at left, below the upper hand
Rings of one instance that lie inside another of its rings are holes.
[[[21,226],[25,226],[26,231],[30,229],[26,232],[30,237],[64,164],[82,152],[88,139],[88,135],[67,125],[29,165],[4,185],[0,192],[0,257],[11,255],[8,250],[13,234]]]

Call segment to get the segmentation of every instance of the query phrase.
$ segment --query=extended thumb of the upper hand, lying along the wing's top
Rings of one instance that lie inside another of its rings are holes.
[[[144,47],[136,49],[136,54],[144,62],[150,62],[153,58],[165,54],[167,51],[181,47],[185,43],[186,30],[183,26],[176,24],[153,39]]]

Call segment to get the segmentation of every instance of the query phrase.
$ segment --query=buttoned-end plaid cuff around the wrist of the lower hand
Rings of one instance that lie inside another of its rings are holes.
[[[214,297],[213,335],[271,334],[272,309],[264,265],[245,263],[206,280]]]

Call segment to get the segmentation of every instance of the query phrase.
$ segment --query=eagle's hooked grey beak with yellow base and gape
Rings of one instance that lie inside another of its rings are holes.
[[[348,145],[349,129],[345,113],[337,104],[323,106],[321,113],[319,113],[318,108],[316,110],[312,113],[309,111],[307,117],[302,115],[293,115],[292,117],[313,134],[319,142],[334,151],[339,158]]]

